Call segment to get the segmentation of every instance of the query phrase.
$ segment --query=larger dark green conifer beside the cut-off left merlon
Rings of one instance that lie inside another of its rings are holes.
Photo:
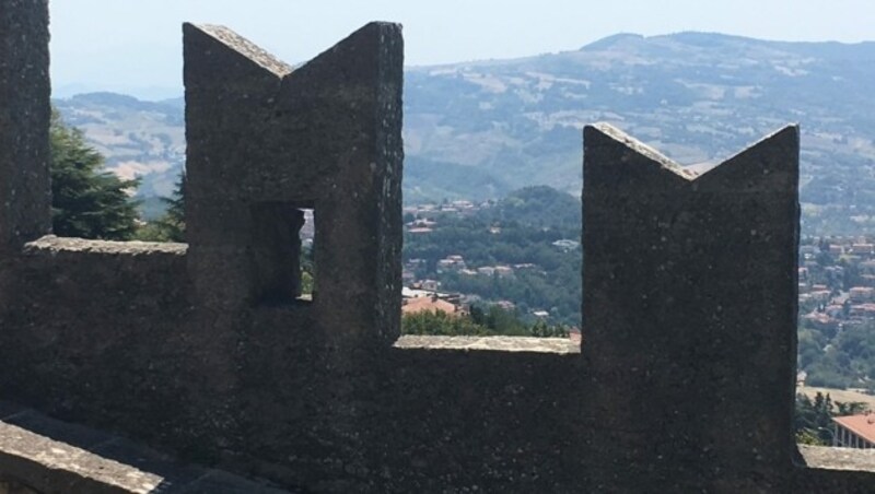
[[[129,191],[139,180],[103,170],[103,156],[82,131],[67,127],[52,111],[51,224],[63,237],[128,240],[137,231],[137,202]]]

